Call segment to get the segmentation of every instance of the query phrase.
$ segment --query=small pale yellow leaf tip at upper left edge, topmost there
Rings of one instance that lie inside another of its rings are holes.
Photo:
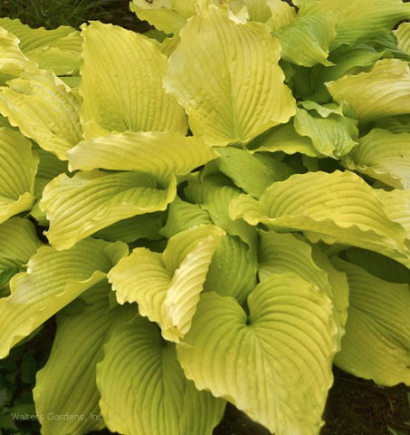
[[[1,20],[1,18],[0,18]],[[0,73],[19,75],[24,70],[36,68],[20,50],[19,39],[14,34],[1,27],[0,22]]]

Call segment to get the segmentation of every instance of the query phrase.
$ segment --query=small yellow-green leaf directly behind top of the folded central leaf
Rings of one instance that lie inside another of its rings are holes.
[[[167,225],[160,231],[167,238],[171,238],[177,233],[196,225],[212,224],[206,210],[197,204],[183,201],[179,197],[176,197],[169,204],[167,212]]]

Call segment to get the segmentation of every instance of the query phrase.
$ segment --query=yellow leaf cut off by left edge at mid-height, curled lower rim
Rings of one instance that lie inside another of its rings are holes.
[[[0,223],[32,208],[37,164],[30,140],[0,127]]]

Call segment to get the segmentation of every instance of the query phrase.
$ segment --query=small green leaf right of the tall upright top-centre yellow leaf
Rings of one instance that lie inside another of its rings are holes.
[[[285,61],[301,66],[329,66],[329,45],[336,36],[335,25],[321,16],[298,16],[273,33],[281,42]]]

